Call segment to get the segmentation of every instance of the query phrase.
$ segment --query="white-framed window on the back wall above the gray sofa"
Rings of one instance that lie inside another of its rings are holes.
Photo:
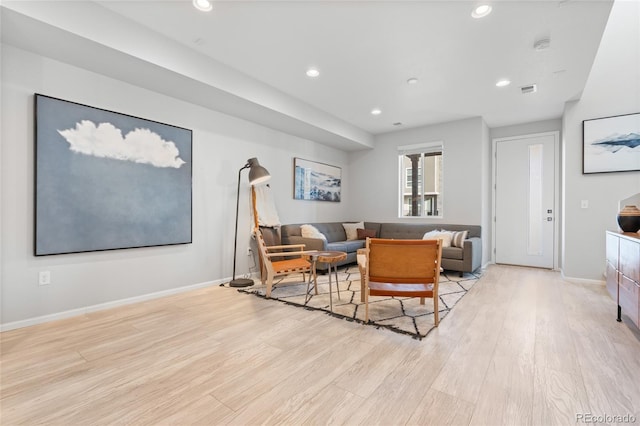
[[[442,142],[398,147],[400,217],[442,217],[442,157]]]

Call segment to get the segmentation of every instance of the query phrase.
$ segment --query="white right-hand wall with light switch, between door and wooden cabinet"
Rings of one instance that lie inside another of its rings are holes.
[[[616,1],[589,80],[563,121],[566,277],[602,280],[605,230],[618,201],[640,191],[640,172],[582,174],[582,120],[640,112],[640,2]],[[640,168],[640,164],[638,165]],[[581,209],[580,201],[589,208]]]

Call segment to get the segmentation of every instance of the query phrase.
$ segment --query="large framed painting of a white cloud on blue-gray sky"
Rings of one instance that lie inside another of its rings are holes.
[[[191,243],[192,132],[35,95],[36,256]]]

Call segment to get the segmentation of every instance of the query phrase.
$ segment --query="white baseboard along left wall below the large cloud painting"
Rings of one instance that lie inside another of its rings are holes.
[[[9,322],[6,324],[0,324],[0,332],[15,330],[18,328],[29,327],[32,325],[43,324],[46,322],[57,321],[65,318],[77,317],[80,315],[84,315],[90,312],[103,311],[105,309],[117,308],[119,306],[131,305],[133,303],[146,302],[148,300],[159,299],[161,297],[171,296],[178,293],[184,293],[191,290],[196,290],[198,288],[210,287],[222,283],[226,283],[229,281],[229,278],[215,280],[215,281],[206,281],[203,283],[192,284],[184,287],[171,288],[168,290],[162,290],[155,293],[143,294],[140,296],[129,297],[126,299],[114,300],[111,302],[100,303],[97,305],[85,306],[82,308],[71,309],[69,311],[57,312],[54,314],[43,315],[40,317],[29,318],[26,320]]]

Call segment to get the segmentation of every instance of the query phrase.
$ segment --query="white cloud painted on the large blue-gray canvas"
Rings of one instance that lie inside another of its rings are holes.
[[[74,129],[58,133],[69,142],[72,151],[81,154],[176,169],[185,163],[175,143],[149,129],[137,128],[123,137],[122,130],[111,123],[96,127],[92,121],[82,120]]]

